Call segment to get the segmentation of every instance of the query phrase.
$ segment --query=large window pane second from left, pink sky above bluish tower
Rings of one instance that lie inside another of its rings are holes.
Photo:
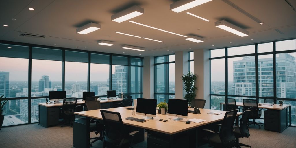
[[[62,61],[32,59],[31,96],[62,91]]]

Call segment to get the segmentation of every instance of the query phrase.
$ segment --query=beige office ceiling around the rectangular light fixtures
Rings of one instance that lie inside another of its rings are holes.
[[[0,0],[0,40],[144,57],[296,37],[295,0],[213,0],[180,13],[170,10],[174,2],[176,0]],[[203,37],[204,42],[194,43],[185,37],[128,21],[111,20],[113,14],[133,5],[144,8],[144,15],[132,21],[185,36],[197,35]],[[260,25],[251,17],[264,24]],[[249,36],[240,37],[215,27],[215,22],[223,19],[249,31]],[[85,35],[76,33],[77,28],[89,22],[99,23],[102,28]],[[45,38],[20,36],[22,33]],[[98,45],[99,40],[113,41],[115,45]],[[145,51],[122,49],[123,44],[143,47]]]

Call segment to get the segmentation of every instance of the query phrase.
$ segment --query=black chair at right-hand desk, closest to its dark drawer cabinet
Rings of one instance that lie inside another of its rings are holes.
[[[259,119],[261,117],[261,109],[259,110],[258,107],[258,101],[255,99],[242,99],[242,102],[244,104],[243,110],[249,110],[250,107],[252,107],[252,112],[249,116],[249,119],[253,119],[251,123],[248,123],[248,126],[253,124],[255,126],[258,125],[259,129],[261,129],[259,123],[255,122],[255,119]],[[263,126],[262,123],[260,123],[261,126]]]

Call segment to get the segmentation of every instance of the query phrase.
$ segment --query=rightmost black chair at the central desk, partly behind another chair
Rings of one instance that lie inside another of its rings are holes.
[[[239,126],[234,126],[234,135],[237,140],[237,144],[239,146],[244,146],[244,147],[251,147],[246,144],[239,143],[239,138],[244,138],[244,137],[250,137],[250,131],[248,128],[248,120],[249,120],[249,115],[252,113],[252,108],[250,107],[250,110],[245,110],[242,114],[242,119],[240,120]]]

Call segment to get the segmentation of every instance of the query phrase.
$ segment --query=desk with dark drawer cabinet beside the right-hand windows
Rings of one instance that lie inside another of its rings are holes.
[[[281,133],[288,126],[288,108],[289,108],[289,125],[291,125],[291,105],[283,104],[268,104],[261,103],[262,105],[258,106],[259,108],[267,109],[264,111],[264,129],[269,131],[278,131]],[[225,102],[220,103],[220,110],[222,110],[222,105],[225,105]],[[243,107],[242,102],[237,102],[237,106]],[[286,109],[286,110],[285,110]],[[285,122],[286,121],[286,122]]]

